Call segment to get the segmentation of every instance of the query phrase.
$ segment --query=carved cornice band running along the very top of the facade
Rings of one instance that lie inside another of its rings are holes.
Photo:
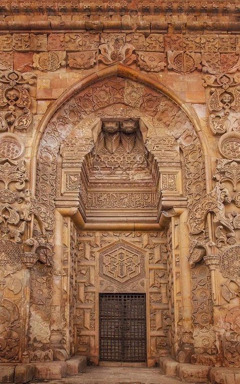
[[[239,15],[240,3],[238,0],[215,1],[180,1],[180,0],[155,0],[147,2],[139,0],[136,5],[134,0],[122,1],[79,1],[79,0],[1,0],[0,14],[8,15],[154,15],[162,14],[214,14],[214,15]]]

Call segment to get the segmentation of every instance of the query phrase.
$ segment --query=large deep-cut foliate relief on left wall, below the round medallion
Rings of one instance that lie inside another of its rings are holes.
[[[24,242],[23,236],[27,223],[33,217],[44,236],[49,215],[46,209],[32,198],[30,190],[26,189],[28,178],[23,160],[3,158],[0,161],[0,181],[5,185],[0,191],[0,265],[16,272],[22,263],[27,267],[35,264],[39,258],[37,248],[48,247],[43,239],[28,239]]]

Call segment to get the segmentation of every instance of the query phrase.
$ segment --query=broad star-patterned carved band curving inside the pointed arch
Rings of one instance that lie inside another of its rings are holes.
[[[143,117],[144,119],[153,119],[155,132],[148,130],[147,143],[155,140],[155,135],[159,136],[159,140],[162,140],[161,136],[166,135],[168,131],[174,136],[175,142],[177,141],[183,151],[185,187],[189,207],[201,199],[205,193],[205,165],[202,144],[189,118],[169,97],[148,86],[139,88],[141,97],[137,97],[134,103],[129,95],[131,92],[136,93],[138,88],[138,83],[130,83],[117,76],[100,80],[73,95],[48,123],[38,148],[36,197],[41,204],[48,206],[52,211],[51,222],[53,222],[55,206],[56,164],[59,147],[79,124],[79,121],[84,122],[83,119],[86,118],[117,119],[125,117],[131,119],[132,117]],[[82,143],[91,140],[91,129],[83,129],[80,137],[79,140],[82,140]],[[90,144],[90,141],[88,143]],[[169,147],[169,142],[167,147]],[[163,149],[165,151],[165,147]],[[154,150],[153,153],[155,153]],[[82,156],[85,154],[86,152],[82,151]],[[163,158],[159,159],[162,162],[163,160]],[[169,161],[174,161],[174,159],[171,157]],[[52,224],[49,228],[53,229]]]

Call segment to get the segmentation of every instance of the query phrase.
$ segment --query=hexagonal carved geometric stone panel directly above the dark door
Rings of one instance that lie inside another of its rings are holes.
[[[145,251],[118,240],[100,250],[99,276],[111,286],[127,289],[145,277]]]

